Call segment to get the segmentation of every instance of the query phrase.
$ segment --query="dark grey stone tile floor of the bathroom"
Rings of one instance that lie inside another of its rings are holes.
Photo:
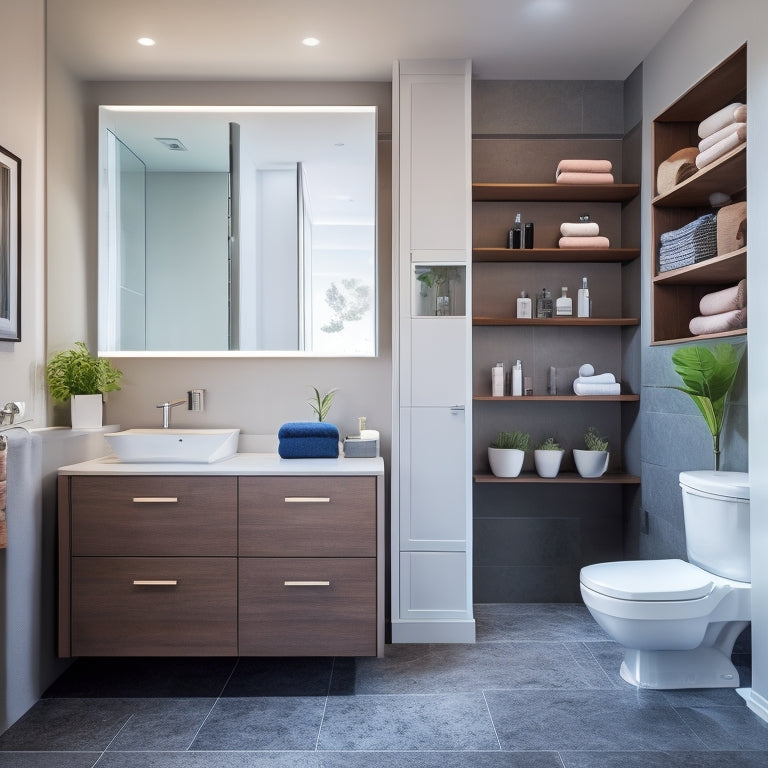
[[[768,766],[735,691],[627,685],[583,606],[476,617],[475,645],[383,659],[80,660],[0,736],[0,768]]]

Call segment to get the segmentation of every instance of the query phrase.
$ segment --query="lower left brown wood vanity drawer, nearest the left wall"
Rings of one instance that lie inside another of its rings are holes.
[[[72,655],[237,655],[236,590],[235,558],[75,557]]]

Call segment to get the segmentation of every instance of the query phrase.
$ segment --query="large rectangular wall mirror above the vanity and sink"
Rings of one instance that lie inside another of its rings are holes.
[[[375,107],[99,108],[99,351],[376,354]]]

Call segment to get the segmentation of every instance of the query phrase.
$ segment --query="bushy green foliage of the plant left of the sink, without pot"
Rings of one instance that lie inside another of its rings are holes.
[[[123,372],[105,357],[93,357],[84,342],[55,354],[46,365],[48,391],[65,402],[72,395],[98,395],[120,389]]]

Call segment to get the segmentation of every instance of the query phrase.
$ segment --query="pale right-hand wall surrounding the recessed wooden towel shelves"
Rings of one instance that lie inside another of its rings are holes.
[[[652,248],[650,197],[652,168],[650,126],[656,115],[700,80],[745,41],[748,43],[747,99],[749,102],[747,156],[749,267],[752,295],[768,283],[768,145],[761,126],[768,121],[768,26],[765,0],[696,0],[647,57],[643,66],[643,254]],[[650,259],[644,259],[643,307],[650,306]],[[768,419],[768,306],[751,301],[749,316],[749,431],[758,438]],[[647,317],[647,311],[645,312]],[[647,345],[650,328],[644,328]],[[750,706],[768,720],[768,444],[749,442],[752,507],[752,699]]]

